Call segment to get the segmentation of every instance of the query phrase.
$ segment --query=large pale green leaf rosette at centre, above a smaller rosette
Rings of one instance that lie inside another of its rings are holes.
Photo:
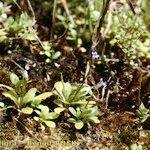
[[[74,105],[94,103],[93,101],[87,101],[88,94],[91,94],[91,88],[86,84],[71,85],[69,82],[59,81],[55,83],[53,93],[58,96],[54,103],[59,107],[68,108]]]

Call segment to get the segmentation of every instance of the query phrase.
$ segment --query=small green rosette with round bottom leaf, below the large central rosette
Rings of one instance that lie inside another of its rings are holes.
[[[99,114],[97,106],[91,107],[90,105],[81,106],[74,109],[69,107],[69,111],[73,115],[73,118],[69,118],[68,121],[74,123],[76,129],[81,129],[85,124],[100,123],[97,115]]]

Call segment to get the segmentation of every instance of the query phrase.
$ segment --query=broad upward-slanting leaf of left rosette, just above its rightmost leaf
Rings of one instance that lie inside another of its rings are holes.
[[[33,98],[35,97],[36,92],[37,92],[36,88],[31,88],[23,97],[22,104],[25,105],[25,104],[31,102],[33,100]]]

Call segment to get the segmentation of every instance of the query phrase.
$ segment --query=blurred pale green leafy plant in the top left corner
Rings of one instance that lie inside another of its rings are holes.
[[[9,38],[21,38],[29,41],[37,40],[35,29],[36,21],[27,13],[17,16],[9,16],[11,5],[0,2],[0,42],[6,42]]]

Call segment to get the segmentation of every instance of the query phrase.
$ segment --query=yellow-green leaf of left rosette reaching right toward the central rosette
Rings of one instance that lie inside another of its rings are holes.
[[[42,94],[40,94],[40,95],[38,95],[32,99],[32,104],[37,106],[41,103],[42,100],[45,100],[46,98],[48,98],[52,95],[53,95],[52,92],[42,93]]]

